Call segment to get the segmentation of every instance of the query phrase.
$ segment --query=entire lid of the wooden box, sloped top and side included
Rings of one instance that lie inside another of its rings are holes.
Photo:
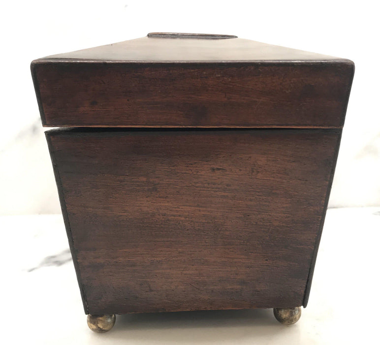
[[[340,128],[354,66],[232,35],[151,33],[31,69],[45,127]]]

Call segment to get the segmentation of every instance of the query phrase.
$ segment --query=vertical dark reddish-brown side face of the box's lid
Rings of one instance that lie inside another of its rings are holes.
[[[44,126],[340,128],[353,64],[48,59],[32,73]]]

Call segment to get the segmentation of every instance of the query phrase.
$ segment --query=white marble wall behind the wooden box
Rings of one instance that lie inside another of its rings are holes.
[[[33,59],[149,32],[237,35],[356,65],[329,207],[380,205],[376,1],[7,1],[1,5],[0,214],[59,213]]]

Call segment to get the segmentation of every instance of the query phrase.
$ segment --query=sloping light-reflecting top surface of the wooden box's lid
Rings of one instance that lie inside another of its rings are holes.
[[[341,60],[327,55],[255,42],[233,35],[150,33],[99,47],[48,56],[122,62],[239,62]]]

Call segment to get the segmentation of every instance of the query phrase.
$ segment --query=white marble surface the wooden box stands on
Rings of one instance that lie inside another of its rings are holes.
[[[118,315],[95,334],[62,216],[1,216],[0,228],[2,344],[379,344],[380,207],[328,210],[309,305],[293,326],[271,310],[199,311]]]

